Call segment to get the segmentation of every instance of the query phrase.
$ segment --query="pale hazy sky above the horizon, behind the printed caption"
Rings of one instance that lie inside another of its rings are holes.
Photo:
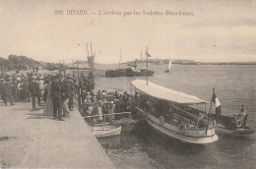
[[[64,15],[55,15],[56,10]],[[67,15],[67,10],[87,15]],[[132,14],[124,17],[124,12]],[[15,54],[71,63],[86,60],[86,44],[92,42],[96,63],[118,63],[120,51],[121,62],[140,59],[141,52],[145,58],[146,47],[152,58],[256,62],[255,0],[0,0],[0,26],[3,58]]]

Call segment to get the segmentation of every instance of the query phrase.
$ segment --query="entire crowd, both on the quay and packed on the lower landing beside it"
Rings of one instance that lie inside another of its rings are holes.
[[[60,73],[42,76],[35,72],[12,76],[1,74],[0,79],[0,94],[6,106],[9,102],[14,105],[15,102],[32,101],[34,110],[36,100],[38,106],[44,101],[43,115],[58,120],[70,116],[75,98],[78,98],[83,116],[98,115],[97,120],[101,121],[117,118],[114,113],[130,111],[132,107],[132,97],[127,92],[115,90],[110,94],[98,90],[94,93],[95,84],[90,78],[82,77],[76,81]]]

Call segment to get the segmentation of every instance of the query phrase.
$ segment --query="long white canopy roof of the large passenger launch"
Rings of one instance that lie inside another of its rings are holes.
[[[143,80],[134,80],[131,84],[139,89],[140,91],[151,95],[153,97],[163,99],[166,101],[171,101],[179,104],[200,104],[200,103],[207,103],[203,99],[198,98],[194,95],[189,95],[183,92],[175,91],[173,89],[160,86],[158,84],[153,84],[151,82],[143,81]]]

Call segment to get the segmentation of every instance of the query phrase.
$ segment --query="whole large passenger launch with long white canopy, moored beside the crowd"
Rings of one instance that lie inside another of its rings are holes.
[[[137,113],[161,133],[193,143],[218,140],[215,120],[191,106],[200,104],[206,108],[208,101],[142,80],[131,84]]]

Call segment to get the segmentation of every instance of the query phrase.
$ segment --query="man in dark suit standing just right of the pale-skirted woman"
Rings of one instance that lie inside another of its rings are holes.
[[[53,117],[54,119],[63,121],[62,118],[62,89],[61,83],[62,75],[57,74],[54,76],[53,81],[51,83],[51,96],[53,99]]]

